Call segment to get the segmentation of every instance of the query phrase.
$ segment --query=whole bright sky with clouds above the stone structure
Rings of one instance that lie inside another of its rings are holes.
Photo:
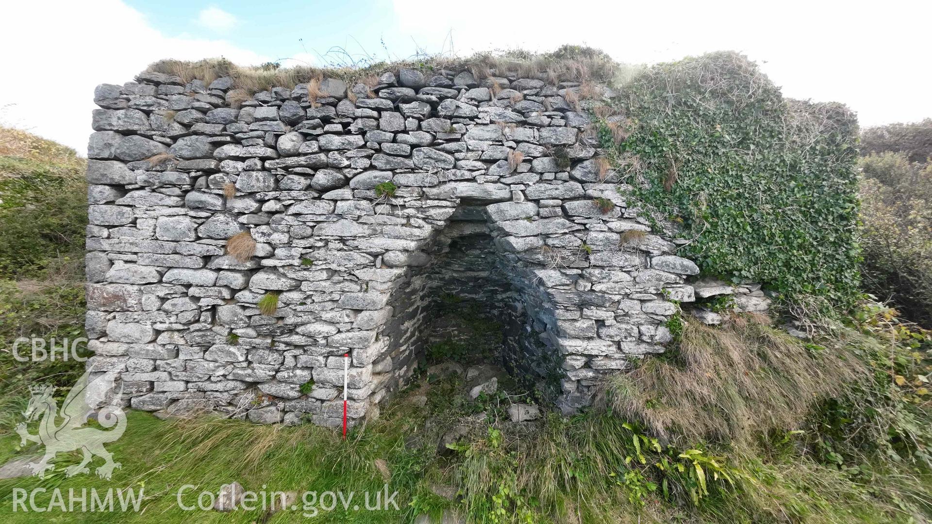
[[[93,90],[162,58],[282,65],[582,44],[654,63],[733,49],[861,125],[932,117],[932,2],[28,0],[4,8],[0,125],[87,151]]]

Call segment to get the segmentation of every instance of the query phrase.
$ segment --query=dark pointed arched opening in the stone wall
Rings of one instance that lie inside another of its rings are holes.
[[[553,306],[532,271],[500,249],[482,203],[462,203],[438,231],[424,264],[391,295],[383,334],[404,383],[420,366],[456,363],[487,379],[507,376],[539,402],[560,393],[557,350],[545,343]],[[468,374],[467,374],[468,375]],[[467,389],[476,380],[467,379]]]

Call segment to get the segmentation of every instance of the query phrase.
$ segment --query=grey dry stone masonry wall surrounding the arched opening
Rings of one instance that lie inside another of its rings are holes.
[[[760,286],[686,283],[679,241],[602,167],[578,85],[541,78],[402,69],[245,102],[227,77],[99,86],[89,369],[119,369],[138,409],[336,425],[348,354],[360,421],[415,373],[438,301],[468,296],[504,325],[506,367],[571,412],[663,352],[700,289],[766,309]]]

